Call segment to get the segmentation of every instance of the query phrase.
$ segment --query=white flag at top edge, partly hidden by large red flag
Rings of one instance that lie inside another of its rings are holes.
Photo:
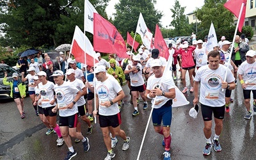
[[[93,13],[98,13],[89,0],[84,0],[84,30],[93,34]]]

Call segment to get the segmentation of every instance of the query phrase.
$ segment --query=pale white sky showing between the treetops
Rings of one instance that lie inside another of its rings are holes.
[[[129,1],[129,0],[127,0]],[[106,8],[106,12],[108,14],[109,17],[111,17],[111,15],[113,14],[113,12],[115,12],[115,4],[118,3],[119,0],[110,0],[108,7]],[[170,8],[173,8],[175,3],[175,0],[157,0],[156,3],[156,10],[162,11],[163,12],[163,17],[161,19],[161,24],[164,28],[166,28],[166,26],[169,26],[171,24],[172,21],[172,12],[170,10]],[[179,0],[180,6],[185,8],[185,12],[184,14],[188,14],[190,12],[193,12],[193,10],[196,10],[197,8],[200,8],[201,6],[204,5],[204,0]],[[139,15],[138,15],[138,19],[139,19]],[[168,27],[170,28],[170,27]]]

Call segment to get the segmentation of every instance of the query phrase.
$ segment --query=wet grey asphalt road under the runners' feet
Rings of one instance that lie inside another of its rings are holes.
[[[179,74],[178,74],[179,77]],[[189,82],[188,76],[186,79]],[[183,88],[182,81],[175,84]],[[124,86],[125,104],[122,108],[122,125],[127,136],[131,137],[129,150],[122,150],[122,139],[118,137],[118,144],[113,149],[116,153],[114,159],[136,159],[140,150],[141,140],[150,114],[150,107],[143,110],[143,102],[140,102],[140,115],[132,117],[132,104],[127,86]],[[205,146],[205,138],[201,113],[196,119],[188,115],[193,106],[193,93],[185,94],[190,104],[173,108],[172,118],[172,159],[256,159],[255,158],[255,118],[245,120],[245,107],[243,106],[243,92],[241,84],[237,84],[232,92],[234,103],[230,105],[230,113],[225,113],[223,132],[220,136],[221,152],[215,152],[212,148],[210,156],[203,156],[202,149]],[[252,104],[252,101],[251,101]],[[45,135],[46,127],[35,116],[29,97],[25,99],[26,118],[20,119],[15,102],[1,102],[0,104],[0,159],[64,159],[68,148],[64,144],[56,146],[56,134]],[[149,104],[151,106],[151,104]],[[82,122],[82,132],[86,136],[87,126]],[[103,142],[99,124],[93,124],[93,133],[88,135],[90,150],[83,152],[82,143],[72,143],[77,151],[73,159],[104,159],[107,150]],[[212,137],[214,130],[212,130]],[[148,127],[147,136],[141,150],[140,159],[163,159],[164,147],[161,145],[163,136],[154,132],[152,122]]]

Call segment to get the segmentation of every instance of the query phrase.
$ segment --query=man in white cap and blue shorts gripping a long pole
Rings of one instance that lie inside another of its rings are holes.
[[[151,67],[154,75],[148,77],[145,97],[152,99],[152,107],[154,108],[152,123],[155,131],[164,136],[164,159],[168,160],[171,159],[170,126],[172,124],[172,99],[175,98],[175,84],[172,78],[163,75],[163,66],[159,59],[153,60]],[[154,104],[154,102],[156,103]]]

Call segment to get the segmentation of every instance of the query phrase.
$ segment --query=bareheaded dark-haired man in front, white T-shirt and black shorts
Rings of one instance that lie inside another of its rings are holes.
[[[211,51],[207,55],[209,65],[200,67],[194,78],[194,95],[193,104],[201,104],[201,111],[204,120],[204,135],[206,138],[206,145],[203,150],[205,156],[211,154],[211,148],[216,152],[221,151],[219,137],[223,129],[223,118],[225,115],[225,92],[222,89],[234,90],[236,84],[232,72],[224,65],[220,65],[220,52]],[[225,74],[227,72],[227,80]],[[198,100],[198,90],[200,82],[200,98]],[[211,141],[212,134],[212,113],[215,122],[215,134]]]

